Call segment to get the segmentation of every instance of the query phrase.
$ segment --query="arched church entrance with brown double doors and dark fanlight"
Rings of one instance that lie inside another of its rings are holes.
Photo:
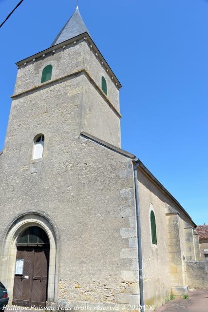
[[[47,299],[50,243],[45,231],[31,226],[17,239],[13,304],[45,306]]]

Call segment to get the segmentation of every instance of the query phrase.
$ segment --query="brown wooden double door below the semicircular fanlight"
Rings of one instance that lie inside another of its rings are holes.
[[[47,298],[49,247],[17,246],[17,259],[23,259],[23,274],[15,274],[13,304],[45,306]]]

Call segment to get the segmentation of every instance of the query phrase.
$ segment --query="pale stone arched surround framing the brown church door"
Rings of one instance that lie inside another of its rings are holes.
[[[0,279],[6,285],[9,304],[12,304],[13,301],[17,241],[24,230],[32,226],[41,228],[47,234],[50,244],[46,305],[51,305],[58,299],[59,237],[57,227],[45,213],[29,211],[12,221],[0,246]]]

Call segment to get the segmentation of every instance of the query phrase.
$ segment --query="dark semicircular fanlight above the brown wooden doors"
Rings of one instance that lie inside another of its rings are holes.
[[[38,226],[27,228],[17,240],[17,245],[45,245],[49,244],[48,235]]]

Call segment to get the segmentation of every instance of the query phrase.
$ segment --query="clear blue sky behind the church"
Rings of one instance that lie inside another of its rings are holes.
[[[19,0],[0,0],[0,21]],[[17,69],[48,48],[76,0],[24,0],[0,29],[0,150]],[[197,224],[208,223],[208,0],[79,0],[123,88],[122,148]]]

